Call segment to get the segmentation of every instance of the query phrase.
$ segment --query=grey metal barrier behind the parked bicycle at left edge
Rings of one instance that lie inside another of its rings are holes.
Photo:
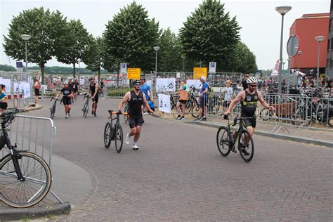
[[[46,161],[52,171],[53,138],[56,133],[56,127],[52,119],[17,115],[15,122],[8,129],[12,145],[16,143],[18,150],[27,150],[39,155]],[[8,151],[2,149],[0,159],[7,154]],[[50,192],[55,199],[63,203],[52,190]]]

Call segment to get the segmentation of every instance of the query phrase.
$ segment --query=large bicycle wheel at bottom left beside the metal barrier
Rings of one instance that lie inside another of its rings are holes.
[[[48,164],[32,152],[20,152],[18,164],[25,181],[19,181],[10,155],[0,168],[0,190],[5,204],[11,207],[32,207],[41,202],[51,188]]]

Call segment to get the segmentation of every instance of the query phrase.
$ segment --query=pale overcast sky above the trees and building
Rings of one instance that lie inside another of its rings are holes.
[[[18,15],[21,11],[41,6],[50,8],[51,11],[59,10],[67,19],[80,19],[84,27],[97,37],[105,30],[107,21],[112,20],[113,15],[119,12],[119,8],[123,8],[132,1],[0,0],[0,2],[0,64],[15,66],[14,60],[8,60],[2,44],[4,43],[3,35],[8,34],[8,27],[13,16]],[[160,28],[170,27],[171,31],[176,34],[178,34],[179,28],[183,27],[186,18],[202,3],[200,0],[137,0],[136,2],[145,7],[150,18],[155,18],[159,22]],[[301,18],[301,15],[306,13],[329,13],[330,6],[329,0],[227,0],[221,2],[225,3],[226,12],[229,12],[231,16],[236,16],[238,24],[242,27],[241,40],[256,55],[259,69],[273,69],[280,56],[281,15],[275,11],[276,6],[292,6],[292,10],[285,15],[284,48],[286,48],[289,37],[289,27],[296,18]],[[154,53],[153,50],[152,53]],[[287,58],[285,50],[283,57]],[[58,63],[55,59],[48,61],[46,65],[68,66]]]

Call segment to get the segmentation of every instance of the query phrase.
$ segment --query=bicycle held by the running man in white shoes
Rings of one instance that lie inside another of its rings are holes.
[[[105,148],[110,148],[111,141],[115,141],[115,148],[117,152],[122,151],[122,143],[124,142],[124,136],[122,132],[122,126],[119,123],[119,115],[128,115],[127,112],[113,112],[113,110],[108,110],[110,116],[110,122],[107,122],[104,127],[104,146]],[[112,115],[117,115],[113,118]],[[113,124],[113,121],[116,121]]]

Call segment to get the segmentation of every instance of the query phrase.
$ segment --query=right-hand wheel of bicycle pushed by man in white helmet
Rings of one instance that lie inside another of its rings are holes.
[[[249,141],[247,141],[249,138]],[[254,155],[254,143],[252,136],[249,131],[242,129],[240,132],[240,137],[238,138],[238,150],[240,150],[240,156],[245,162],[250,162]]]

